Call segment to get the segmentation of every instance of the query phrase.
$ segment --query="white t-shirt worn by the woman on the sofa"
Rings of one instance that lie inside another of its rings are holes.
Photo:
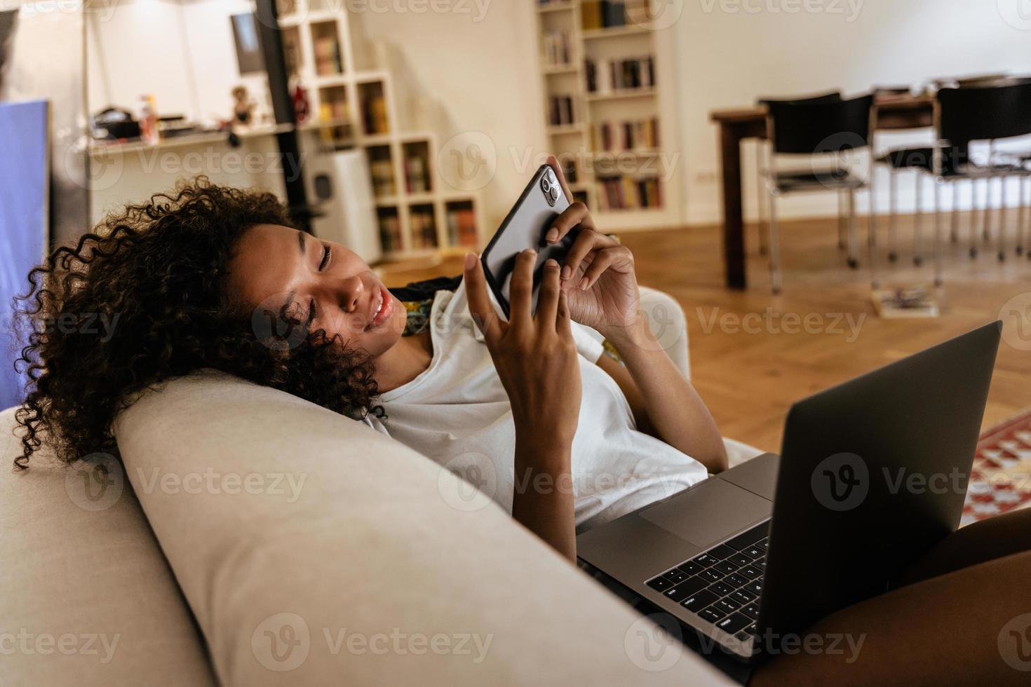
[[[366,421],[511,512],[516,425],[490,351],[469,315],[464,281],[454,293],[436,293],[430,332],[430,367],[379,398],[386,420]],[[623,391],[595,365],[601,344],[575,322],[573,336],[583,401],[571,467],[576,528],[583,531],[680,491],[707,473],[694,458],[637,431]]]

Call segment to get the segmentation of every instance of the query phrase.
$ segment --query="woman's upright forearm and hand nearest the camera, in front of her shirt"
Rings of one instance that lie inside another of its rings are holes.
[[[559,264],[544,264],[531,315],[536,253],[516,259],[511,308],[502,321],[487,296],[484,268],[465,257],[469,312],[484,333],[516,423],[512,517],[571,561],[576,560],[571,447],[580,408],[580,377]]]

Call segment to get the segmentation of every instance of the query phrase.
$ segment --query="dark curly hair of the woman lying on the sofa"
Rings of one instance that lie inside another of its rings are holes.
[[[109,214],[34,268],[15,299],[27,345],[14,365],[29,377],[15,415],[25,428],[15,467],[27,468],[44,442],[63,462],[118,455],[112,423],[136,392],[202,368],[350,417],[381,416],[365,351],[324,330],[304,330],[297,341],[290,328],[304,324],[285,310],[259,312],[228,294],[235,246],[261,224],[292,226],[272,194],[198,177]],[[284,325],[290,345],[275,336]]]

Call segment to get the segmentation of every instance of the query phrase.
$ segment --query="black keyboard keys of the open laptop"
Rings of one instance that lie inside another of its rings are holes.
[[[645,584],[746,642],[757,631],[769,526],[767,520]]]

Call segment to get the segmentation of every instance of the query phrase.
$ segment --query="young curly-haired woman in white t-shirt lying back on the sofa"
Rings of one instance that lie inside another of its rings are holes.
[[[33,381],[15,466],[43,443],[67,462],[117,454],[111,423],[126,399],[213,368],[366,422],[451,470],[493,474],[495,500],[574,560],[578,529],[727,467],[711,415],[640,315],[630,250],[580,203],[548,242],[577,225],[564,264],[544,266],[534,314],[532,253],[517,257],[508,321],[469,254],[461,282],[433,295],[412,333],[358,255],[292,228],[270,194],[198,180],[130,205],[29,275],[20,363]],[[86,313],[110,325],[67,325]],[[554,488],[536,488],[542,480]],[[996,634],[1016,609],[1031,611],[1029,574],[1027,512],[967,527],[901,588],[821,621],[822,631],[867,633],[861,660],[781,656],[754,682],[1018,678]],[[980,636],[991,642],[971,640]]]

